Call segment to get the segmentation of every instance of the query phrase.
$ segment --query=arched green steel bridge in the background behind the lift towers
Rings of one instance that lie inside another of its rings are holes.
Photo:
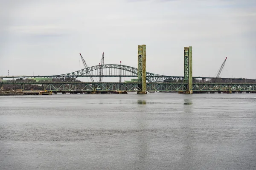
[[[4,76],[0,77],[0,79],[7,79],[7,78],[52,78],[52,79],[76,79],[78,77],[99,77],[99,69],[103,68],[103,75],[102,77],[137,77],[137,68],[127,66],[127,65],[116,65],[116,64],[107,64],[107,65],[95,65],[89,68],[84,68],[79,71],[67,73],[67,74],[58,74],[58,75],[49,75],[49,76]],[[119,75],[119,69],[121,69],[121,75]],[[89,74],[90,73],[90,74]],[[214,77],[193,77],[194,79],[214,79]],[[241,78],[221,78],[223,80],[242,80]],[[160,74],[154,74],[150,72],[146,72],[146,80],[147,82],[166,82],[172,81],[177,82],[178,80],[183,80],[183,76],[166,76]],[[256,79],[247,79],[253,80],[256,83]]]

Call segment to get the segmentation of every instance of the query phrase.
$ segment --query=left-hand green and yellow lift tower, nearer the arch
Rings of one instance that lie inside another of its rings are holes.
[[[146,89],[146,45],[138,45],[138,86],[137,94],[147,94]]]

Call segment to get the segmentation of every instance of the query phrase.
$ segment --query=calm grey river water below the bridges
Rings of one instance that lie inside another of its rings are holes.
[[[0,96],[0,170],[255,170],[256,94]]]

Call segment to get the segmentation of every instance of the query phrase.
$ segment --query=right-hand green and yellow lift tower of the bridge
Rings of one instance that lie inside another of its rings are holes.
[[[184,47],[184,83],[187,84],[185,94],[193,94],[192,79],[192,47]]]

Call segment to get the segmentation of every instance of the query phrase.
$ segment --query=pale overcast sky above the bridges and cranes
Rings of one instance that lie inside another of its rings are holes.
[[[105,64],[183,76],[183,48],[193,48],[193,76],[256,78],[256,0],[0,0],[0,75],[64,74]],[[118,78],[116,78],[118,81]]]

